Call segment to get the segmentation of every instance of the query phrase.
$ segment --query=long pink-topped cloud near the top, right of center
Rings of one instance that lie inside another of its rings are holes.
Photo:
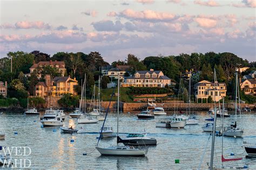
[[[132,19],[146,19],[146,20],[171,20],[176,16],[172,13],[167,12],[156,12],[152,10],[144,10],[144,11],[133,11],[132,9],[124,10],[120,13],[121,16]]]

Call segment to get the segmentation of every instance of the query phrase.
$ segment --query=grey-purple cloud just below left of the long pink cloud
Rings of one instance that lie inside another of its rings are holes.
[[[102,20],[93,22],[92,25],[97,31],[120,31],[124,27],[119,20],[117,20],[116,23],[113,23],[112,20]]]

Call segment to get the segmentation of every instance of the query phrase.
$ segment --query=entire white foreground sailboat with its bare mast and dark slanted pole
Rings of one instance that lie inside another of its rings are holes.
[[[118,122],[119,122],[119,87],[120,83],[119,83],[119,74],[118,74],[118,96],[117,96],[117,137],[118,136]],[[113,97],[113,93],[111,95],[110,98],[110,102],[112,100]],[[110,106],[110,103],[109,103]],[[107,112],[109,111],[109,107],[107,108]],[[107,117],[107,112],[106,112],[106,116],[105,116],[105,120]],[[105,121],[103,123],[102,126],[102,130],[104,127]],[[100,138],[99,138],[100,140]],[[98,143],[99,143],[98,140]],[[133,157],[144,157],[147,154],[147,150],[144,149],[140,149],[140,148],[135,148],[134,146],[119,146],[118,145],[118,141],[117,141],[117,146],[109,146],[109,147],[99,147],[97,143],[96,149],[98,150],[98,152],[102,155],[106,155],[106,156],[133,156]]]

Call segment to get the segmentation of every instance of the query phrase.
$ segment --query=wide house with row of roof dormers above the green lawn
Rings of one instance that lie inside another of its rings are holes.
[[[171,85],[171,79],[161,71],[137,71],[133,76],[127,77],[121,87],[165,87]]]

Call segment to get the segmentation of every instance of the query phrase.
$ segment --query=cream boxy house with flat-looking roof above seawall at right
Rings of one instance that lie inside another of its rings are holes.
[[[195,91],[197,103],[199,98],[203,103],[203,99],[205,98],[207,101],[207,98],[209,96],[211,96],[212,100],[214,101],[214,91],[215,91],[215,102],[218,102],[219,100],[221,100],[221,98],[226,96],[227,86],[226,86],[226,83],[217,82],[216,87],[214,89],[214,83],[203,80],[194,84],[194,91]]]

